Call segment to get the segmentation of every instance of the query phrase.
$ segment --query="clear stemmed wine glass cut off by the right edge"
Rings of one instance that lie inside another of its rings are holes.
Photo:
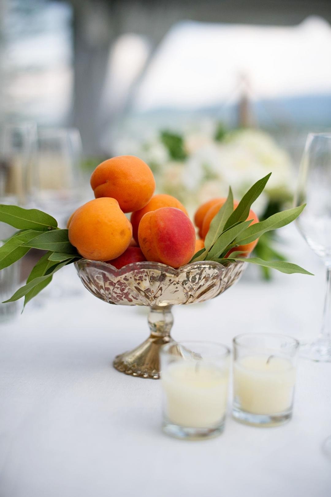
[[[303,153],[295,206],[307,203],[296,224],[314,252],[323,260],[326,293],[322,329],[318,338],[301,347],[301,355],[331,361],[331,133],[310,133]]]

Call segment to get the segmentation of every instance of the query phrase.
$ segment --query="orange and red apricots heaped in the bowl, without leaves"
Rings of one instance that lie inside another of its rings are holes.
[[[187,264],[204,248],[211,222],[226,200],[217,198],[199,207],[194,219],[199,229],[197,240],[185,207],[171,195],[153,195],[152,171],[137,157],[120,156],[103,162],[94,170],[91,186],[96,198],[69,218],[69,240],[83,257],[106,261],[116,268],[144,260],[175,268]],[[234,207],[237,205],[234,202]],[[129,212],[131,222],[124,214]],[[252,210],[247,219],[251,224],[258,222]],[[233,250],[247,255],[256,243],[232,248],[227,255]]]

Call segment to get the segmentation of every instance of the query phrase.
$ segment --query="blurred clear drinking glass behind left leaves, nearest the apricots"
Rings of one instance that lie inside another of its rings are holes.
[[[38,154],[33,174],[36,207],[65,228],[82,203],[82,142],[76,128],[38,128]]]

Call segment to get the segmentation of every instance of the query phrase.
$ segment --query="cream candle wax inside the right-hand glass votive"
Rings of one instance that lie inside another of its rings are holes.
[[[290,409],[295,369],[288,359],[247,356],[234,362],[234,402],[247,413],[278,414]]]

